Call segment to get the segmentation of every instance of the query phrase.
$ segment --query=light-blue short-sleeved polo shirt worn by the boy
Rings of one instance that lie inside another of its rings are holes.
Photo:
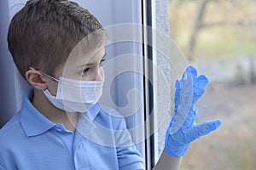
[[[1,170],[144,169],[125,119],[98,104],[79,117],[75,133],[50,122],[32,105],[32,90],[21,110],[0,129]]]

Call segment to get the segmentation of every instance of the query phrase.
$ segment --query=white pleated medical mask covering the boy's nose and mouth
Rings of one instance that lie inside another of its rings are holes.
[[[45,73],[44,73],[45,74]],[[85,112],[95,105],[102,96],[104,71],[101,68],[102,81],[79,81],[60,77],[56,79],[45,74],[58,82],[57,94],[53,96],[46,89],[44,95],[52,105],[68,112]]]

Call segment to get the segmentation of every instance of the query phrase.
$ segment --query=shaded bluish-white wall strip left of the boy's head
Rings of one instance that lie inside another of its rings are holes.
[[[20,3],[22,1],[19,1]],[[10,17],[15,14],[15,1],[0,1],[0,79],[2,96],[0,102],[0,127],[7,122],[15,112],[20,109],[20,103],[24,94],[23,90],[27,88],[27,84],[20,78],[15,68],[13,59],[9,54],[7,45],[7,33]],[[20,83],[21,82],[21,83]],[[20,89],[23,89],[20,91]]]

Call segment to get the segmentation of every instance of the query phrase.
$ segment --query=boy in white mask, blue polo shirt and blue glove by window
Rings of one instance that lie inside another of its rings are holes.
[[[144,169],[124,118],[97,104],[107,39],[88,10],[67,0],[30,0],[15,14],[9,50],[33,90],[0,130],[1,170]],[[175,116],[155,169],[177,169],[190,142],[220,125],[195,126],[194,105],[206,84],[193,67],[177,81]]]

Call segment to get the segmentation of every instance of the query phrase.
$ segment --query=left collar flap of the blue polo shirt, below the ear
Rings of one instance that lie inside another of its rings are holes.
[[[32,105],[33,95],[32,89],[26,93],[20,110],[20,123],[28,137],[45,133],[56,125],[56,123],[50,122]]]

